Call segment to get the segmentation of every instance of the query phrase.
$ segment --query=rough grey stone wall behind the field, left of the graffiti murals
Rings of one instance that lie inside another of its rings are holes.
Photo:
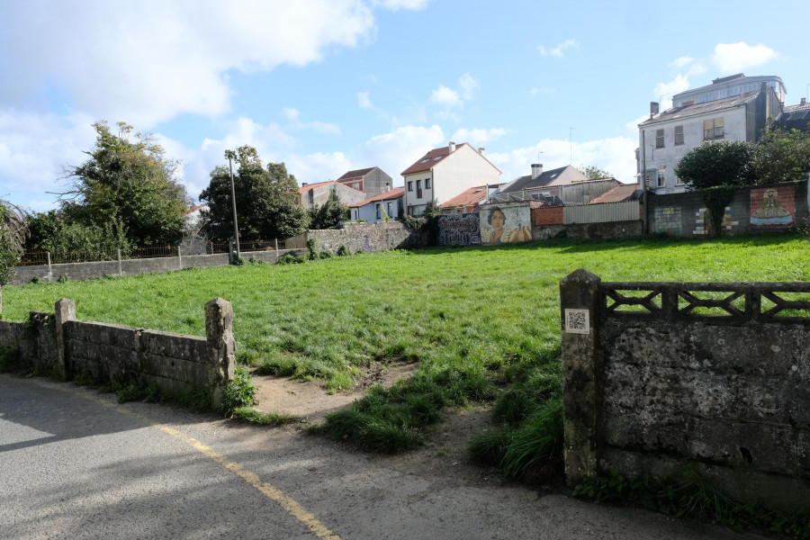
[[[350,253],[390,251],[404,247],[425,247],[424,234],[408,229],[401,221],[382,223],[344,223],[342,229],[308,230],[284,240],[289,248],[306,249],[307,240],[315,239],[317,251],[337,253],[346,246]]]

